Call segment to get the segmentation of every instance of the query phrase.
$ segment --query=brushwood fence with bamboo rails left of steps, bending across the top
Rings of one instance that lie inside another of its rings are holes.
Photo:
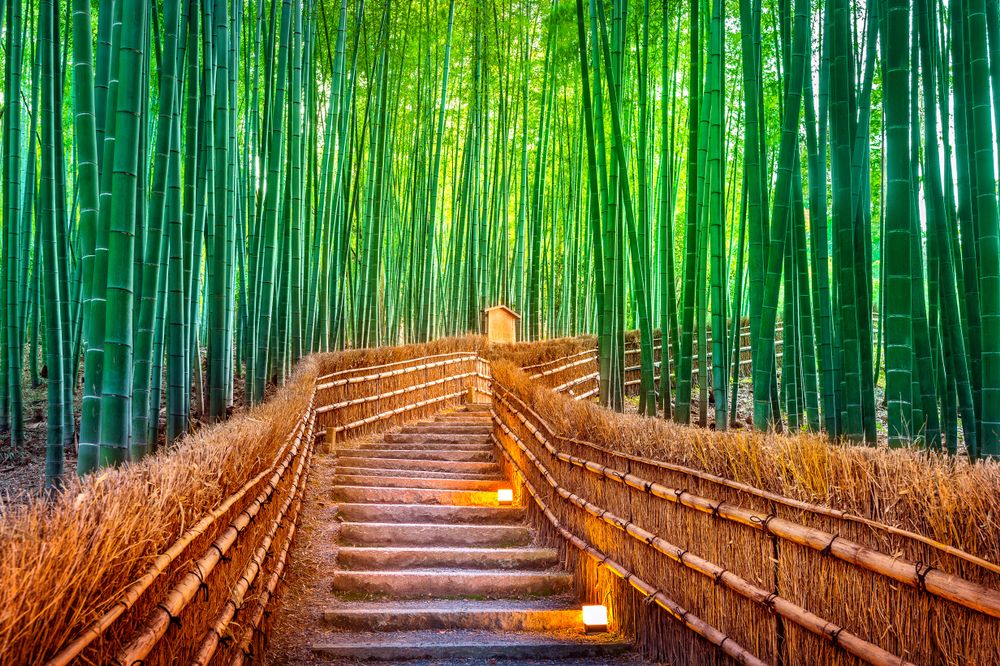
[[[141,463],[71,479],[55,498],[3,507],[0,663],[255,660],[314,434],[392,427],[470,388],[481,397],[484,347],[469,337],[314,355],[264,405]]]

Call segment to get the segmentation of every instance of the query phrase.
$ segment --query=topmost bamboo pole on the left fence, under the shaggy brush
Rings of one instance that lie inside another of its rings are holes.
[[[142,576],[122,591],[114,605],[101,617],[91,623],[90,626],[88,626],[77,638],[75,638],[72,643],[67,645],[58,654],[52,657],[52,659],[46,662],[46,666],[65,666],[66,664],[71,663],[73,659],[80,656],[93,641],[103,636],[104,632],[107,631],[119,617],[136,604],[146,590],[148,590],[149,587],[161,575],[163,575],[167,567],[177,560],[177,558],[184,553],[187,547],[195,539],[204,534],[216,520],[225,515],[234,504],[242,500],[248,493],[255,489],[257,485],[267,478],[269,474],[273,474],[278,462],[287,454],[288,448],[292,446],[295,434],[304,426],[306,415],[308,415],[312,410],[312,403],[315,395],[314,391],[313,397],[310,398],[309,405],[306,408],[306,414],[303,415],[303,418],[296,423],[295,428],[293,428],[288,434],[288,437],[285,439],[285,443],[279,450],[278,455],[275,456],[275,460],[271,466],[243,484],[239,490],[224,499],[217,507],[212,509],[211,512],[195,523],[191,529],[182,534],[180,538],[174,541],[174,543],[167,548],[167,550],[157,555],[156,559],[153,560],[153,563],[149,566],[145,573],[143,573]]]

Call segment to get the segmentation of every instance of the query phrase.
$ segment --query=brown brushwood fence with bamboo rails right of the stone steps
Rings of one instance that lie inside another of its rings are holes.
[[[685,428],[493,374],[533,520],[649,656],[1000,663],[1000,466]]]

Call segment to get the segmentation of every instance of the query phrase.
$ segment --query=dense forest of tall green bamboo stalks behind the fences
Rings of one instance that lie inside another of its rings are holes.
[[[313,352],[496,305],[520,340],[596,339],[613,410],[1000,456],[994,0],[3,0],[0,25],[0,455],[52,489]]]

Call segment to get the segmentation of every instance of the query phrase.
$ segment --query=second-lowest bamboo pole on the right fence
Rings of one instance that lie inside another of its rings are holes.
[[[643,529],[636,523],[625,520],[624,518],[585,500],[583,497],[566,490],[559,485],[559,482],[548,470],[548,468],[545,467],[538,457],[524,444],[524,442],[521,441],[517,434],[507,427],[507,424],[502,421],[498,422],[498,424],[503,432],[517,444],[517,446],[524,452],[525,456],[535,465],[538,472],[545,478],[549,485],[552,486],[552,489],[555,490],[564,500],[583,509],[595,518],[622,530],[635,540],[641,541],[650,548],[666,555],[686,568],[696,571],[703,576],[714,580],[716,583],[725,585],[728,589],[739,594],[745,599],[753,601],[759,606],[777,613],[790,622],[802,627],[806,631],[825,639],[834,647],[841,648],[848,654],[851,654],[866,663],[875,664],[876,666],[913,666],[901,657],[897,657],[891,652],[883,650],[874,643],[870,643],[860,636],[847,631],[844,627],[834,624],[833,622],[806,610],[798,604],[792,603],[788,599],[779,596],[776,592],[772,593],[760,588],[750,583],[745,578],[738,576],[713,562],[699,557],[689,550],[676,546],[653,534],[652,532]],[[498,446],[502,447],[496,437],[494,437],[494,441],[497,442]]]

